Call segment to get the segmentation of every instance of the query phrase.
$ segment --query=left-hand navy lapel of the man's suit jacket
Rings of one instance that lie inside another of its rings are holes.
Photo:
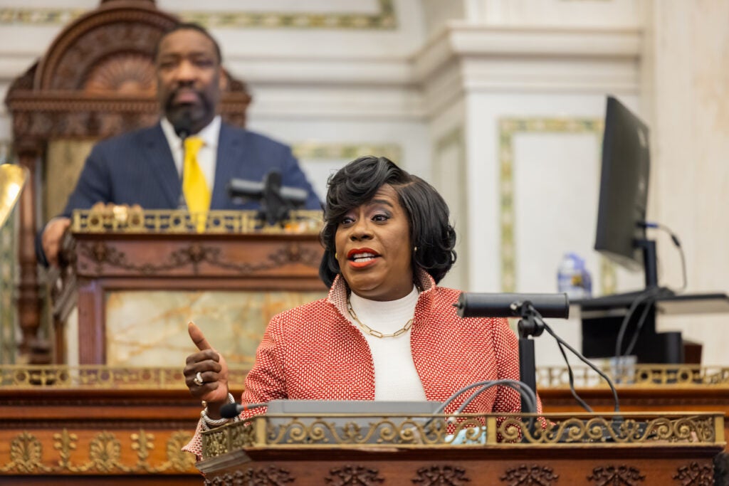
[[[163,197],[169,207],[176,209],[182,193],[182,184],[165,133],[157,123],[146,130],[143,137],[146,150],[142,153],[144,157],[147,157],[147,165],[153,176],[159,181]]]

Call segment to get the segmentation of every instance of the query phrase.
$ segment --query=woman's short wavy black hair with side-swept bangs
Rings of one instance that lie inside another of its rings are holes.
[[[448,205],[435,188],[385,157],[359,157],[329,178],[324,228],[319,234],[324,246],[319,277],[327,286],[340,273],[335,258],[335,235],[340,221],[352,208],[370,201],[385,184],[395,190],[408,215],[413,272],[421,268],[438,283],[456,262],[456,230],[448,221]]]

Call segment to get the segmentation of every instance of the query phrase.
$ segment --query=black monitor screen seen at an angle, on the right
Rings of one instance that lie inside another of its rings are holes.
[[[607,97],[595,249],[631,270],[644,268],[650,149],[648,127]],[[652,282],[655,285],[655,282]]]

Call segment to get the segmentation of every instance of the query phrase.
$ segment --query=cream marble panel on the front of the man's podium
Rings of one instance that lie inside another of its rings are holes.
[[[111,291],[106,294],[106,364],[183,366],[195,351],[194,321],[229,364],[250,366],[273,315],[324,292]]]

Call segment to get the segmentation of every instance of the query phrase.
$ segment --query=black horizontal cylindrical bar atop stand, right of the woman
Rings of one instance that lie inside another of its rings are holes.
[[[459,317],[521,317],[521,307],[530,302],[542,317],[569,317],[567,294],[475,294],[462,293],[456,307]]]

